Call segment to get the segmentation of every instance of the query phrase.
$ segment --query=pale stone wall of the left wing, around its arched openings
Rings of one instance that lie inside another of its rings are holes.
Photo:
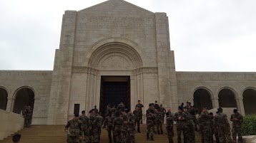
[[[13,112],[16,92],[29,88],[34,92],[33,125],[46,125],[52,71],[0,70],[0,87],[8,92],[6,111]]]

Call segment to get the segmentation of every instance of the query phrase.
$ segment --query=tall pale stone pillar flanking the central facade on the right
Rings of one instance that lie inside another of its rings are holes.
[[[166,13],[156,13],[156,42],[159,103],[171,107],[171,85],[169,80],[169,36]]]

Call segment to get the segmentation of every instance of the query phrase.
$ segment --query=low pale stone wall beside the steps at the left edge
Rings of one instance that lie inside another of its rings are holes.
[[[24,127],[24,118],[13,112],[0,110],[0,140],[18,132]]]

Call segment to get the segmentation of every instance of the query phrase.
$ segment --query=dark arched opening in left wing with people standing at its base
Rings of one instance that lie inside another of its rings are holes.
[[[20,88],[16,91],[13,112],[20,114],[24,106],[29,105],[34,108],[34,91],[31,88]]]

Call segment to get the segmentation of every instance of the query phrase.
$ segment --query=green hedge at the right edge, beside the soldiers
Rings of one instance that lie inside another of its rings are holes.
[[[242,125],[243,135],[256,135],[256,115],[246,115]]]

